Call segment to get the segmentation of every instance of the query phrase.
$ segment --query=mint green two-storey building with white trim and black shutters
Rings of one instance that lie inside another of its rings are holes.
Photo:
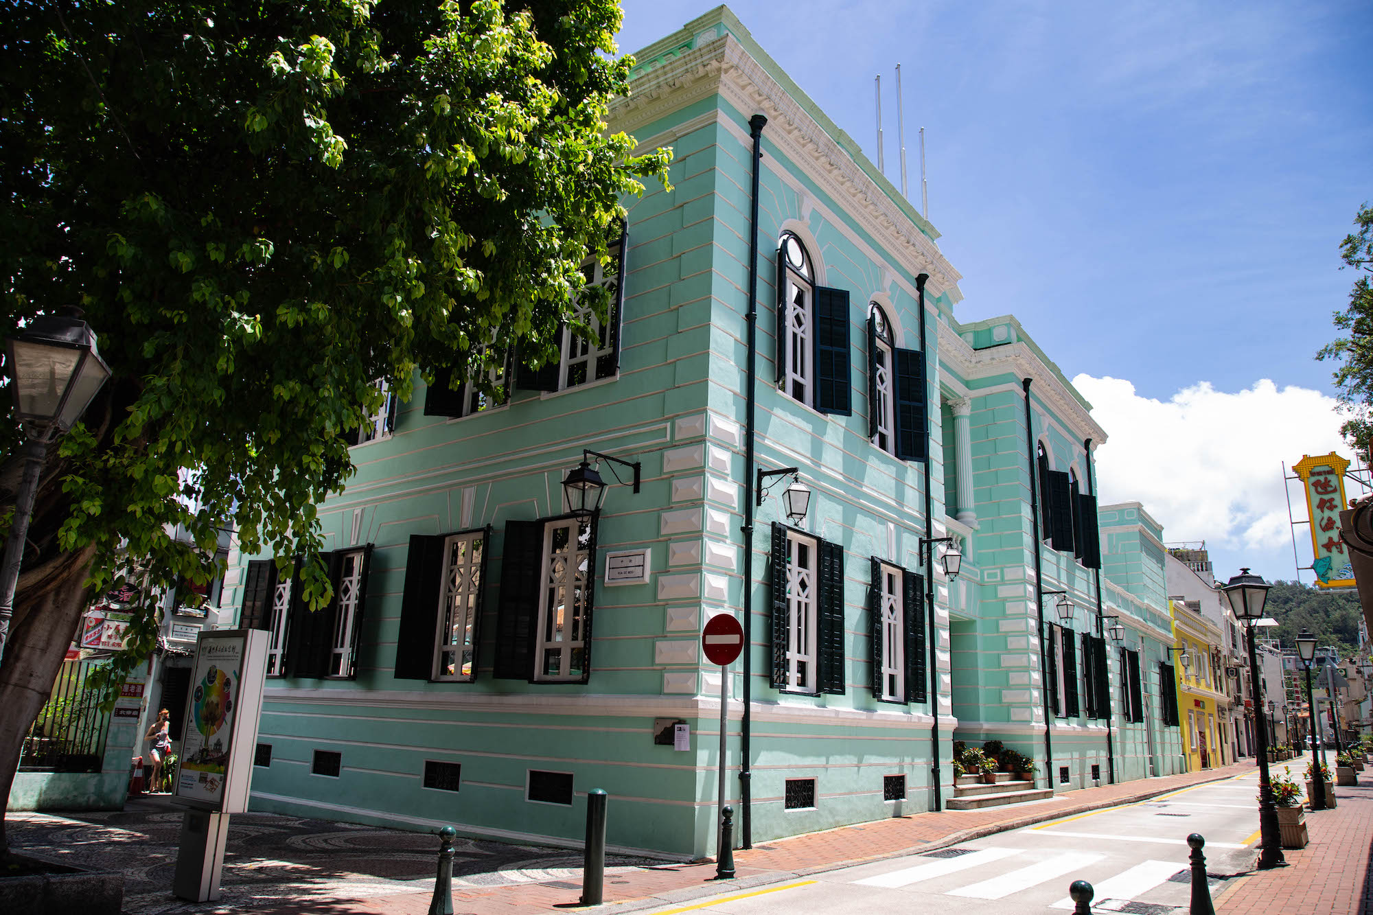
[[[1043,793],[1175,771],[1157,532],[1101,510],[1098,539],[1086,401],[1015,319],[956,319],[938,231],[728,10],[636,56],[611,128],[671,146],[674,187],[625,202],[596,343],[360,430],[325,611],[231,555],[228,621],[273,632],[255,808],[579,844],[604,789],[611,846],[714,853],[715,614],[747,632],[740,839],[957,805],[956,739],[1023,750]]]

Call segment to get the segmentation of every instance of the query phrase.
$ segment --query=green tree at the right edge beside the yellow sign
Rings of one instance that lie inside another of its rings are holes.
[[[1322,346],[1315,357],[1339,363],[1335,386],[1348,416],[1340,433],[1366,456],[1373,444],[1373,284],[1369,282],[1373,276],[1373,206],[1359,207],[1354,225],[1358,232],[1340,242],[1344,267],[1358,271],[1348,308],[1335,312],[1335,326],[1344,337]]]

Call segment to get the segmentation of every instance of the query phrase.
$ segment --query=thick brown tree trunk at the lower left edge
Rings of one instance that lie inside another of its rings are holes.
[[[0,662],[0,797],[8,798],[29,725],[52,692],[67,646],[85,610],[85,587],[95,547],[62,554],[19,577],[14,624]],[[0,820],[0,857],[10,852]]]

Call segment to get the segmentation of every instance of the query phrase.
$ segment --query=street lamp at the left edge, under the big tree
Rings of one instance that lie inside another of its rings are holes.
[[[5,367],[14,394],[15,418],[29,437],[23,474],[15,493],[14,522],[0,566],[0,657],[10,637],[14,617],[14,589],[23,563],[23,543],[29,536],[38,477],[48,456],[48,444],[71,429],[110,378],[110,367],[96,350],[91,327],[74,315],[44,315],[33,319],[22,334],[5,341]]]

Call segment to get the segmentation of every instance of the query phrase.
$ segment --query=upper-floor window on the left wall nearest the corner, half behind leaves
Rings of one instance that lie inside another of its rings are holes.
[[[603,321],[593,308],[590,295],[581,295],[574,308],[574,319],[589,328],[589,335],[571,332],[564,324],[557,330],[559,360],[541,368],[520,365],[516,385],[526,390],[566,390],[619,372],[619,337],[625,313],[625,254],[629,234],[621,225],[619,238],[607,245],[608,260],[588,257],[582,264],[586,289],[604,289],[610,297]]]

